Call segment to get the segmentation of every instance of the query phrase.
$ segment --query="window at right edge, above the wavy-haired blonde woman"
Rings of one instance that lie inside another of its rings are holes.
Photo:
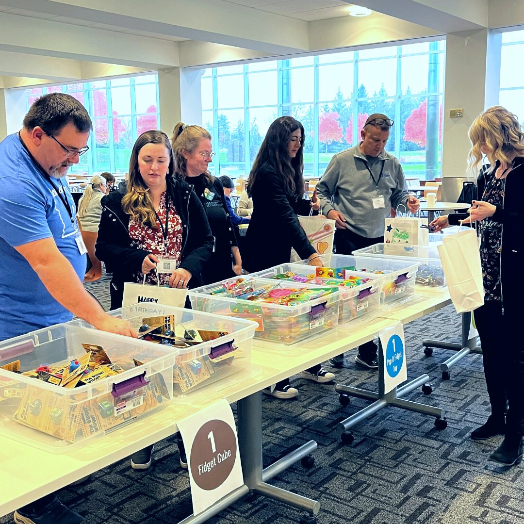
[[[524,31],[502,34],[499,103],[524,124],[524,72],[519,67],[523,53]]]

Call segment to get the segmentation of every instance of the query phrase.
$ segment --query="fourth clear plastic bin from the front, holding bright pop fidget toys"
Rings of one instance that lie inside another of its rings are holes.
[[[277,275],[292,272],[295,275],[305,277],[314,275],[315,269],[314,266],[309,265],[282,264],[281,266],[275,266],[252,273],[250,276],[274,279]],[[354,287],[332,286],[341,292],[339,308],[339,326],[341,328],[345,326],[357,328],[358,325],[366,324],[386,312],[388,308],[380,303],[380,291],[384,279],[383,275],[374,275],[363,271],[348,271],[346,276],[368,278],[369,281]],[[313,280],[310,280],[309,283],[328,287],[326,286],[326,282],[330,280],[332,279],[315,277]],[[289,281],[292,281],[292,279],[289,279]]]

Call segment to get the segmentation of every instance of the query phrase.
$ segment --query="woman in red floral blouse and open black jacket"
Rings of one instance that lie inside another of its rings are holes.
[[[127,193],[111,191],[102,199],[96,256],[113,272],[111,309],[122,306],[125,282],[141,282],[146,275],[156,283],[153,270],[161,259],[176,262],[172,272],[160,272],[161,285],[202,285],[213,236],[200,200],[173,171],[169,138],[147,131],[131,152]]]

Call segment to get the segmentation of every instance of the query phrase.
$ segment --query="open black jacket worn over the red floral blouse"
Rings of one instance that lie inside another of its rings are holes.
[[[191,185],[167,178],[167,192],[182,221],[182,250],[179,267],[191,272],[190,288],[202,286],[202,266],[211,255],[213,235],[200,200]],[[96,257],[106,264],[111,279],[111,309],[122,307],[124,282],[136,282],[144,258],[129,236],[129,215],[122,210],[123,194],[111,191],[102,199],[102,216],[96,241]]]

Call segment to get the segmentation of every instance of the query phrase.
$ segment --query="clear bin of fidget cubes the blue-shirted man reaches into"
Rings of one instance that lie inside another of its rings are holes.
[[[144,324],[144,319],[157,316],[163,320],[172,315],[169,325],[164,325],[164,330],[169,329],[180,337],[187,332],[195,332],[198,333],[198,340],[214,337],[191,347],[172,348],[177,352],[173,368],[174,395],[190,394],[201,386],[242,371],[251,364],[251,348],[257,326],[255,322],[161,304],[136,304],[110,311],[110,314],[128,320],[137,331]],[[73,323],[92,327],[83,320]],[[218,333],[223,334],[216,336]],[[167,337],[163,340],[170,341]],[[148,341],[143,341],[143,344],[147,347],[158,345]]]

